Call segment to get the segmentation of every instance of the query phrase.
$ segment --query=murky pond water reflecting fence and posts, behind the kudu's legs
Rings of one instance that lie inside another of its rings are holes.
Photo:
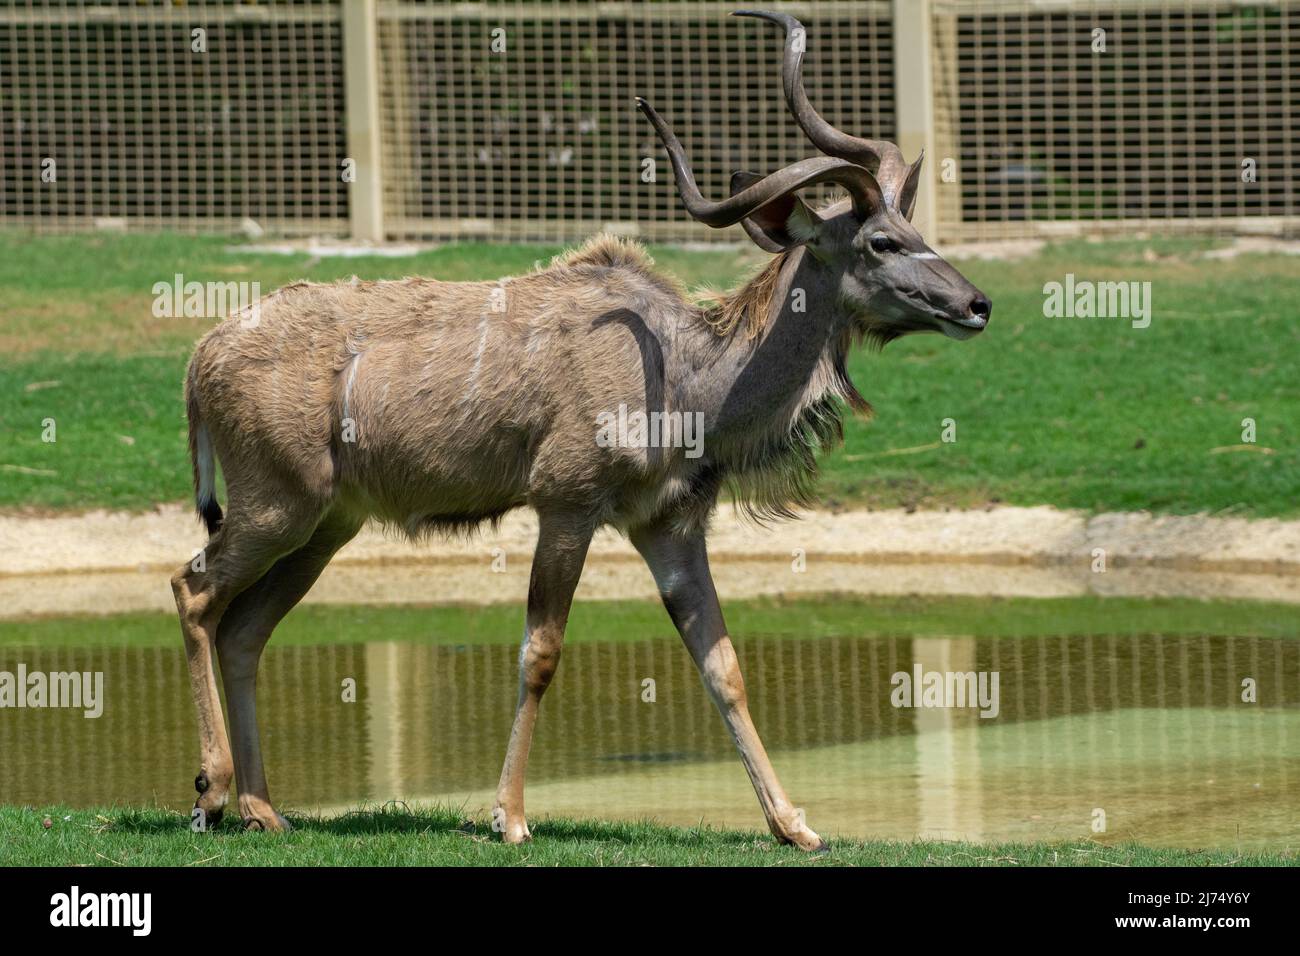
[[[826,637],[746,639],[738,652],[774,762],[823,832],[1300,844],[1296,643]],[[103,671],[107,702],[99,719],[0,710],[0,803],[190,804],[198,747],[179,648],[0,649],[0,670],[20,662]],[[997,671],[997,718],[892,706],[890,675],[916,665]],[[274,796],[299,809],[490,806],[514,671],[508,645],[272,645],[259,695]],[[1247,678],[1256,704],[1242,701]],[[762,826],[720,719],[667,639],[566,648],[529,809]],[[1092,830],[1098,812],[1105,834]]]

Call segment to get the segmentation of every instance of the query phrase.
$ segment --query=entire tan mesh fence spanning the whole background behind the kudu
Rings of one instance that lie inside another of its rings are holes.
[[[806,86],[832,124],[920,124],[937,239],[1297,232],[1300,0],[768,5],[806,23]],[[811,155],[780,31],[732,9],[8,0],[0,225],[347,234],[376,182],[391,238],[737,239],[680,209],[632,100],[676,127],[710,195]],[[918,10],[919,39],[897,27]],[[370,69],[348,70],[348,16],[374,23]],[[350,181],[358,90],[378,137]]]

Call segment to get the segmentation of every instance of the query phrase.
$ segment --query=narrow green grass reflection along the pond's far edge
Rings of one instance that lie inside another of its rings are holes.
[[[299,605],[276,628],[276,646],[358,644],[515,644],[521,609],[488,606]],[[727,623],[744,637],[948,636],[1054,637],[1078,635],[1231,635],[1294,637],[1300,610],[1257,601],[1057,597],[866,597],[835,594],[758,598],[727,605]],[[568,641],[673,637],[653,601],[580,601]],[[179,646],[172,614],[0,620],[0,646]]]

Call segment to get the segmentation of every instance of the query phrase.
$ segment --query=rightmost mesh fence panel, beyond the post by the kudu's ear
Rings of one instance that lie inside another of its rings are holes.
[[[935,14],[946,238],[1294,230],[1300,5],[987,3]]]

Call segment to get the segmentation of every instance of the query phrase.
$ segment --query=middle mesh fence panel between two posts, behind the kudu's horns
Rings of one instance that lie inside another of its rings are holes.
[[[893,133],[887,3],[814,3],[809,78],[833,122]],[[701,189],[811,153],[781,99],[780,33],[732,5],[380,8],[385,204],[396,235],[569,239],[602,228],[711,238],[681,212],[633,96],[676,129]],[[500,52],[493,52],[495,31]],[[644,181],[654,160],[655,182]],[[729,238],[744,238],[738,229]]]

